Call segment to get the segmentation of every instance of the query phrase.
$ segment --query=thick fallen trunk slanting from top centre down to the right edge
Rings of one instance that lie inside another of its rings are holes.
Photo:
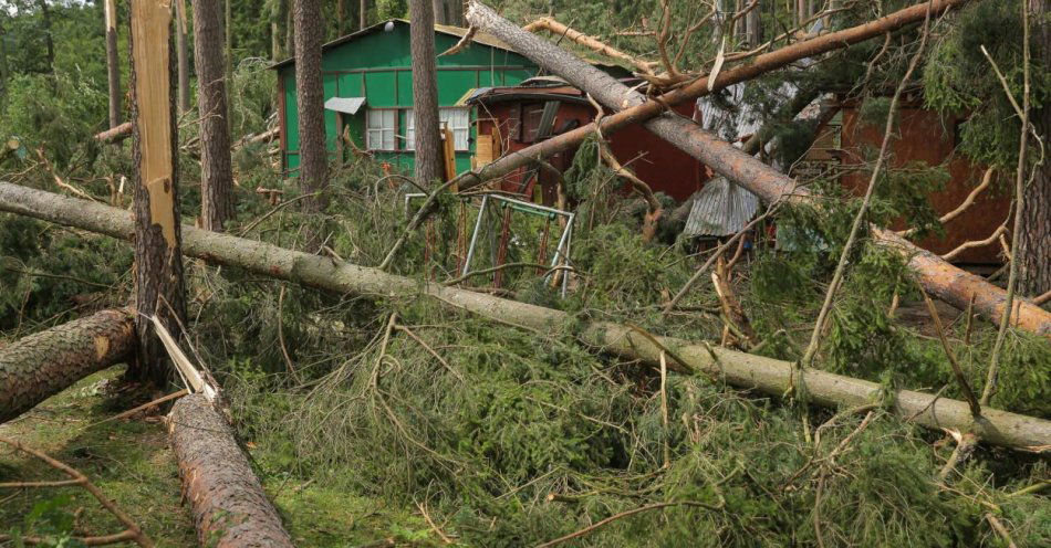
[[[928,7],[932,14],[936,14],[964,1],[966,0],[932,1],[917,4],[910,10],[914,14],[919,13],[922,19],[926,15]],[[902,12],[904,11],[908,10],[902,10]],[[561,75],[568,82],[587,92],[596,101],[611,108],[621,109],[659,103],[647,102],[641,93],[628,88],[608,74],[554,44],[519,29],[477,1],[471,2],[467,19],[471,25],[507,42],[519,53],[552,73]],[[829,34],[822,36],[822,39],[832,35]],[[748,66],[758,63],[759,59]],[[687,88],[694,86],[696,86],[696,83]],[[657,106],[660,107],[660,105]],[[750,190],[768,204],[781,200],[797,203],[816,203],[814,196],[809,190],[800,188],[791,177],[704,130],[693,120],[665,114],[644,124],[647,129],[658,137]],[[1002,315],[1007,313],[1007,294],[1003,289],[990,284],[982,277],[953,266],[934,253],[917,247],[892,231],[880,226],[871,226],[871,231],[876,242],[905,255],[909,267],[917,274],[919,283],[928,294],[935,295],[961,310],[972,302],[975,310],[996,323],[999,323]],[[1014,314],[1017,315],[1017,327],[1051,337],[1051,313],[1031,303],[1022,302]]]

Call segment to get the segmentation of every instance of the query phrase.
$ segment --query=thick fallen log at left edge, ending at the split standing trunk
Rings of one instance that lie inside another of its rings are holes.
[[[102,310],[0,348],[0,423],[132,356],[127,310]]]

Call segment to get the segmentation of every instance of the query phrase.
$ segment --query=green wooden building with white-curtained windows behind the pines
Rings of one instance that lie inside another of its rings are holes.
[[[435,25],[435,50],[452,48],[467,33],[458,27]],[[514,85],[537,74],[537,66],[498,39],[481,32],[474,43],[437,60],[439,117],[454,133],[457,171],[470,169],[475,124],[462,103],[478,87]],[[299,123],[295,61],[273,65],[278,71],[278,115],[281,166],[299,167]],[[355,147],[410,172],[413,169],[413,61],[409,23],[392,19],[322,46],[325,97],[325,146],[333,159],[348,157],[342,135]]]

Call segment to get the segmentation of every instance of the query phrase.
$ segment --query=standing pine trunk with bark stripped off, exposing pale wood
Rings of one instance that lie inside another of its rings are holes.
[[[138,352],[128,377],[167,384],[171,368],[146,316],[176,339],[186,317],[178,200],[178,124],[173,101],[171,11],[132,0],[129,43],[135,212],[135,319]]]

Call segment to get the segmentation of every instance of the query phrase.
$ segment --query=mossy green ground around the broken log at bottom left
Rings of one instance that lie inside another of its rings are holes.
[[[19,419],[0,424],[0,435],[86,474],[158,547],[194,546],[192,517],[181,499],[178,465],[160,417],[139,414],[101,423],[148,400],[119,386],[122,372],[123,368],[111,368],[81,380]],[[248,446],[260,481],[300,546],[345,547],[385,539],[431,546],[439,540],[416,508],[389,508],[383,500],[293,479],[281,472],[280,451],[251,442]],[[0,482],[62,478],[39,460],[0,450]],[[71,518],[77,535],[122,529],[84,489],[0,493],[0,531],[41,531]]]

